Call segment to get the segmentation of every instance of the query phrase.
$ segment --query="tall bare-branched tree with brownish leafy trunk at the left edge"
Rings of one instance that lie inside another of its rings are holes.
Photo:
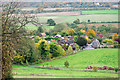
[[[14,52],[19,49],[22,39],[27,35],[24,27],[28,23],[38,23],[35,16],[28,17],[21,14],[18,16],[16,10],[20,8],[20,3],[9,2],[2,4],[2,79],[12,77],[12,60]],[[13,15],[14,13],[14,15]],[[21,13],[21,12],[19,12]],[[22,17],[22,18],[21,18]],[[21,46],[23,47],[23,46]]]

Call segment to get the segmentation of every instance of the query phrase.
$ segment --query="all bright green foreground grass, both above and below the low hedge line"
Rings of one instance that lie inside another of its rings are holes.
[[[79,77],[79,78],[117,78],[117,73],[103,73],[103,72],[84,72],[84,71],[65,71],[65,70],[53,70],[53,69],[39,69],[34,68],[34,66],[40,65],[53,65],[54,67],[64,67],[64,62],[68,60],[70,63],[69,68],[74,69],[85,69],[88,66],[109,66],[109,67],[118,67],[118,49],[95,49],[95,50],[85,50],[77,54],[52,60],[49,62],[44,62],[31,66],[21,66],[13,65],[13,72],[24,73],[17,74],[14,77]],[[42,74],[42,75],[30,75],[29,73]]]

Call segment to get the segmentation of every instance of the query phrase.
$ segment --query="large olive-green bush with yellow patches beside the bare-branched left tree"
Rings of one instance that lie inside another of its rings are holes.
[[[35,43],[31,39],[23,39],[21,44],[24,44],[25,46],[19,46],[19,49],[16,50],[16,54],[14,57],[14,63],[33,63],[35,62],[38,58],[38,52],[35,47]],[[17,61],[20,60],[20,61]],[[26,62],[27,61],[27,62]]]

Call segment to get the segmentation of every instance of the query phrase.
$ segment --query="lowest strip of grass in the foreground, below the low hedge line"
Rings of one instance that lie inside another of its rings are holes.
[[[83,71],[64,71],[38,68],[16,68],[13,72],[24,73],[14,75],[14,78],[117,78],[116,73],[83,72]],[[30,75],[41,74],[41,75]]]

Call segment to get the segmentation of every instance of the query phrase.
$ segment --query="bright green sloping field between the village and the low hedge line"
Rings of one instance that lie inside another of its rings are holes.
[[[64,62],[68,61],[74,68],[85,69],[87,66],[118,66],[118,49],[95,49],[85,50],[77,54],[57,59],[35,66],[54,65],[56,67],[64,67]]]

